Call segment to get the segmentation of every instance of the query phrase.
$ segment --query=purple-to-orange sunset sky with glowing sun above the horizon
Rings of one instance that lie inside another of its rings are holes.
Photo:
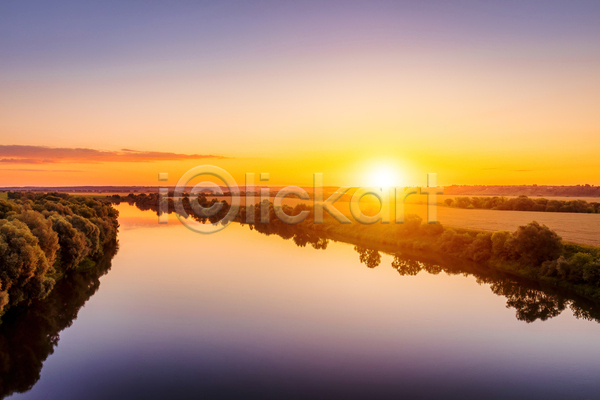
[[[4,1],[0,186],[598,185],[599,38],[598,1]]]

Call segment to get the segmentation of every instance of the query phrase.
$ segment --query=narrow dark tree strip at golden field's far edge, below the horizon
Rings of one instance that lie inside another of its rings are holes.
[[[444,200],[449,207],[485,210],[511,210],[511,211],[544,211],[544,212],[572,212],[572,213],[599,213],[600,202],[588,203],[584,200],[548,200],[531,199],[527,196],[515,198],[506,197],[456,197]]]

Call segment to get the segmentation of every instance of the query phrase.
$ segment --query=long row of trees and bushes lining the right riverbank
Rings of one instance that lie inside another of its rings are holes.
[[[140,204],[143,209],[158,210],[158,195],[129,195],[116,198],[127,199],[130,204]],[[172,199],[169,201],[169,212],[173,210]],[[187,201],[187,198],[184,199]],[[214,204],[202,196],[203,206]],[[211,218],[195,219],[205,223],[220,221],[228,210],[228,204],[218,215]],[[275,215],[273,203],[263,202],[268,209],[269,226],[284,229],[289,225],[281,222]],[[235,221],[244,223],[247,213],[255,214],[255,221],[260,221],[260,205],[240,207]],[[341,224],[327,213],[322,224],[314,224],[312,207],[298,204],[294,208],[284,205],[282,210],[287,215],[298,215],[308,211],[308,217],[296,225],[313,233],[315,237],[337,235],[350,240],[365,241],[391,245],[399,251],[402,249],[428,251],[446,254],[458,259],[470,260],[489,268],[525,276],[538,281],[567,287],[579,294],[600,299],[600,248],[565,244],[561,237],[545,225],[531,222],[519,227],[515,232],[498,231],[494,233],[466,229],[445,228],[439,222],[423,223],[417,215],[407,215],[403,224],[364,225],[359,223]],[[190,210],[191,211],[191,210]],[[188,211],[190,215],[193,213]],[[255,224],[260,230],[266,224]]]

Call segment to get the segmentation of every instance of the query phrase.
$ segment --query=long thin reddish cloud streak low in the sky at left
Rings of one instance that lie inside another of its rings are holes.
[[[154,162],[228,158],[212,154],[179,154],[131,149],[104,151],[86,148],[20,145],[0,145],[0,157],[0,163],[2,164],[99,164],[105,162]]]

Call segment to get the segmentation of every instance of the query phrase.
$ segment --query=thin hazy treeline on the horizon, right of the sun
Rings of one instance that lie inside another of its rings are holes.
[[[444,188],[447,195],[469,196],[565,196],[600,197],[600,186],[590,184],[576,186],[548,185],[452,185]]]

